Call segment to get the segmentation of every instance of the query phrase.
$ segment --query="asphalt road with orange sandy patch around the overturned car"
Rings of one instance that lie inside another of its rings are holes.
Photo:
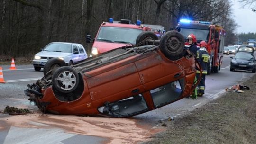
[[[230,72],[230,55],[224,56],[219,73],[206,77],[206,94],[198,99],[181,99],[170,105],[130,118],[102,118],[58,116],[39,111],[28,115],[0,114],[0,144],[120,144],[145,141],[150,135],[163,130],[159,121],[183,117],[212,99],[218,98],[225,88],[240,83],[254,73]],[[0,83],[0,110],[5,106],[37,110],[24,94],[28,83],[43,76],[32,65],[17,65],[18,70],[2,66],[5,84]],[[40,138],[39,138],[40,137]]]

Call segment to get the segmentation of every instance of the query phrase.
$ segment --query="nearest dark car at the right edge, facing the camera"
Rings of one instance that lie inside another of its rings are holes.
[[[256,70],[256,59],[254,56],[254,48],[247,45],[242,45],[238,48],[238,52],[230,62],[230,71],[248,70],[253,73]]]

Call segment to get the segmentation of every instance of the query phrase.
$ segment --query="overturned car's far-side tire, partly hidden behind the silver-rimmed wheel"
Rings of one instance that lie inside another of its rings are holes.
[[[53,73],[62,66],[67,66],[64,60],[59,58],[51,58],[44,66],[44,76],[46,76],[46,74],[50,71],[51,72],[49,74],[53,75]]]

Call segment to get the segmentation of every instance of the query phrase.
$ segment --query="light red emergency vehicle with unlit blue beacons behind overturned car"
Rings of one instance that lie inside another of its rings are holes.
[[[109,18],[108,22],[101,24],[95,39],[86,36],[87,43],[93,42],[90,57],[125,45],[135,45],[137,36],[143,31],[154,32],[158,39],[165,33],[163,26],[141,24],[140,20],[132,23],[129,19],[114,21]]]

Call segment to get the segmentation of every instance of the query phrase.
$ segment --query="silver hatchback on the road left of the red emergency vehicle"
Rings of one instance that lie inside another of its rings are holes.
[[[86,59],[87,53],[81,44],[65,42],[49,43],[41,52],[34,56],[33,65],[35,71],[40,71],[46,62],[54,57],[62,59],[65,63],[71,65]]]

